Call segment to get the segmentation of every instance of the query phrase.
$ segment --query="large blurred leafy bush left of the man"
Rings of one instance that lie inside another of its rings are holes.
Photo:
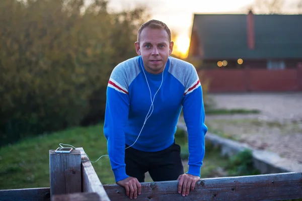
[[[135,56],[147,15],[91,2],[0,1],[0,145],[103,116],[109,75]]]

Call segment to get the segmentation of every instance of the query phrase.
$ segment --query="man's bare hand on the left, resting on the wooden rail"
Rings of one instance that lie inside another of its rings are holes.
[[[137,194],[140,194],[140,192],[141,192],[141,185],[138,182],[137,178],[129,176],[129,177],[125,178],[124,180],[120,180],[116,183],[125,188],[126,195],[130,199],[132,199],[132,197],[134,197],[134,199],[136,199]]]

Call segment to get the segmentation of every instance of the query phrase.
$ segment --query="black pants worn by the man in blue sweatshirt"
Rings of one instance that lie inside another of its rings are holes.
[[[128,147],[128,145],[126,145]],[[153,181],[177,180],[184,173],[180,146],[172,144],[157,152],[144,152],[129,147],[125,150],[126,174],[144,182],[144,173],[149,172]]]

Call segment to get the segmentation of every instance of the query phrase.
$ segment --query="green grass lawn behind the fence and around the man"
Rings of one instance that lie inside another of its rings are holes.
[[[26,139],[0,148],[0,189],[49,187],[49,150],[59,147],[59,143],[83,147],[91,161],[107,154],[102,124]],[[177,132],[176,143],[181,145],[183,158],[187,159],[187,138],[183,132]],[[210,150],[207,149],[203,161],[203,178],[215,176],[217,167],[226,162],[217,150]],[[107,156],[92,164],[103,184],[115,183]]]

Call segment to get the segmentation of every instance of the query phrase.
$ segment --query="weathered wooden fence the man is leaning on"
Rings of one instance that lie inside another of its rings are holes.
[[[102,185],[83,148],[49,151],[50,188],[0,190],[0,200],[129,200],[117,184]],[[108,170],[109,171],[109,170]],[[302,172],[200,179],[188,196],[178,181],[141,183],[136,200],[284,200],[302,198]]]

